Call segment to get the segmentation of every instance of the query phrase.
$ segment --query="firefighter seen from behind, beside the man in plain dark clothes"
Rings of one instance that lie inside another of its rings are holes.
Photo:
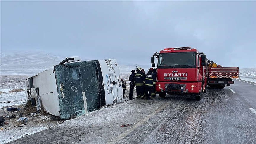
[[[135,73],[134,76],[134,83],[136,86],[136,93],[137,93],[137,98],[144,99],[144,90],[143,90],[143,85],[145,83],[145,75],[141,72],[141,68],[137,68],[137,73]]]

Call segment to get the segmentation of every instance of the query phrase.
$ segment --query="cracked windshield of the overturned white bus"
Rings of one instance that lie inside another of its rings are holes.
[[[66,63],[54,67],[60,104],[60,119],[71,119],[85,113],[82,92],[88,112],[105,105],[101,88],[102,74],[97,60]]]

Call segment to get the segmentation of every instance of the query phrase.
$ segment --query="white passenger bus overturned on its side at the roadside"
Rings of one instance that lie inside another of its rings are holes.
[[[80,57],[68,57],[59,65],[27,78],[28,102],[60,119],[75,118],[106,104],[123,102],[116,59],[79,60]],[[31,95],[35,89],[36,96]],[[87,109],[82,92],[85,93]]]

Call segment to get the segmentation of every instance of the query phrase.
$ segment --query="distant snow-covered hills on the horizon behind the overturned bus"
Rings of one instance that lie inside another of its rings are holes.
[[[60,57],[46,52],[3,52],[0,51],[0,75],[24,75],[31,76],[46,68],[58,65],[66,57]],[[87,61],[89,59],[83,59]],[[136,66],[132,63],[119,62],[120,71],[122,75],[128,75]],[[141,68],[147,69],[150,66],[139,65]]]

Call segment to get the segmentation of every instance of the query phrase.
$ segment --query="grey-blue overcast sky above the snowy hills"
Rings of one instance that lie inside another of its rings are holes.
[[[151,65],[194,47],[225,67],[256,67],[256,1],[0,1],[1,51]]]

